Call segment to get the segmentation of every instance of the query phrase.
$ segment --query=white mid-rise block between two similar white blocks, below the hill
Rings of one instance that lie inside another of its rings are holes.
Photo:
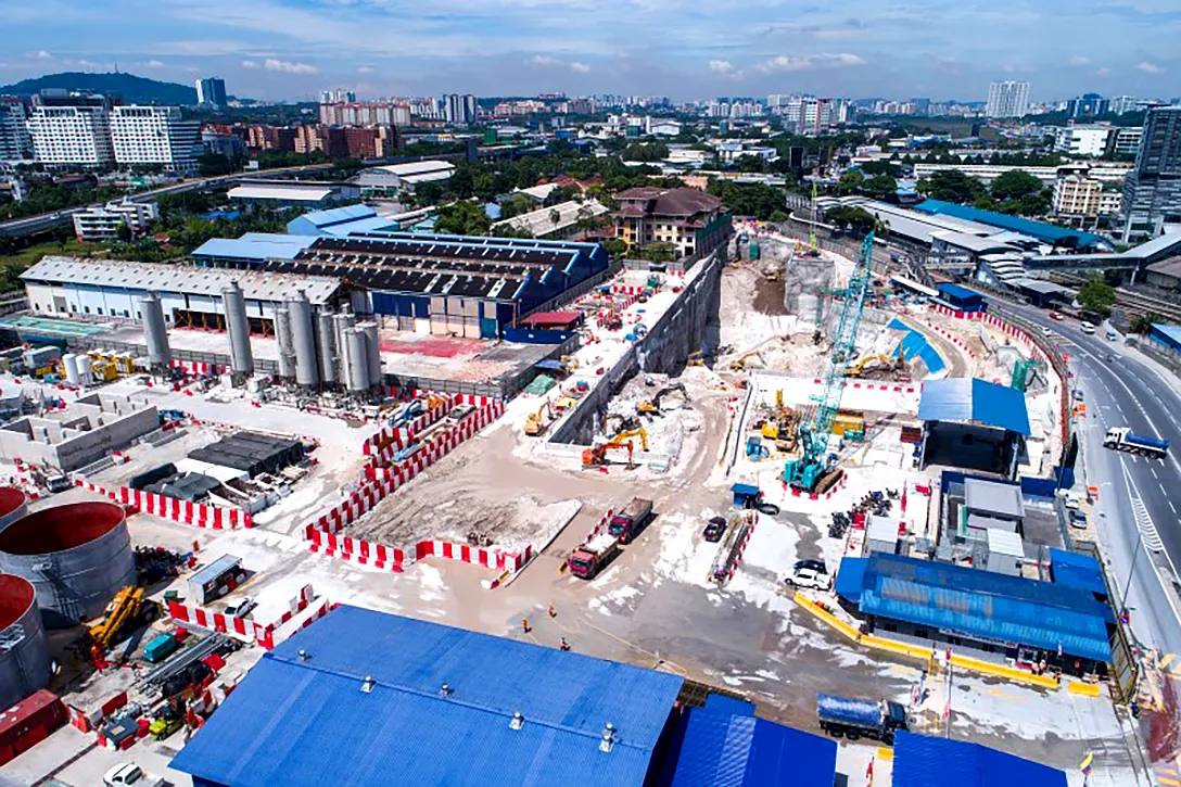
[[[104,96],[43,91],[33,98],[28,136],[33,154],[44,164],[110,167],[111,100]]]

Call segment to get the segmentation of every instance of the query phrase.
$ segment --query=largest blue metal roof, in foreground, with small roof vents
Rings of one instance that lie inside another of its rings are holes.
[[[340,606],[265,655],[172,767],[231,787],[640,785],[681,682]]]

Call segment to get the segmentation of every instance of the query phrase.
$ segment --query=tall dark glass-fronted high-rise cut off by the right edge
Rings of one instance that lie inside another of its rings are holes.
[[[1155,106],[1144,116],[1121,214],[1125,243],[1181,225],[1181,106]]]

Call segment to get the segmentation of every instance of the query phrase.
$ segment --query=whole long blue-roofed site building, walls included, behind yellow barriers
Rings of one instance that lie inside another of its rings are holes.
[[[868,631],[992,659],[1103,674],[1111,607],[1072,584],[875,552],[844,558],[834,588]]]

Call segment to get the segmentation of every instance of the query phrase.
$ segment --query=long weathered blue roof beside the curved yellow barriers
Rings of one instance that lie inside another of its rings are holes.
[[[1111,659],[1110,607],[1074,587],[875,552],[861,581],[862,614],[985,640]]]

